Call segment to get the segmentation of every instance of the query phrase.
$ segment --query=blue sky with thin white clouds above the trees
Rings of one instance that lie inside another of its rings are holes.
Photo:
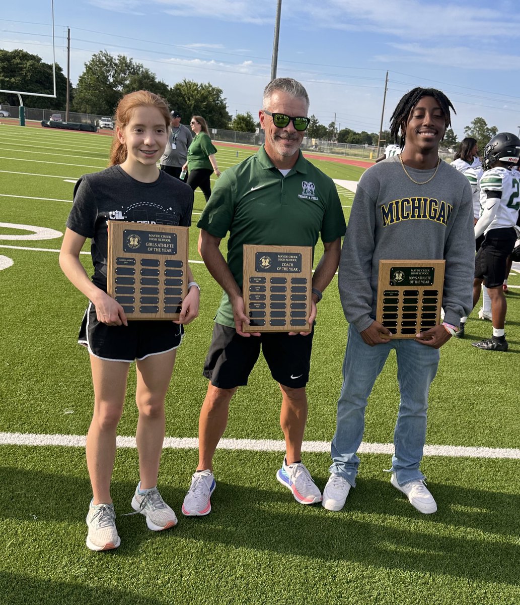
[[[54,0],[56,60],[72,83],[93,53],[143,63],[173,85],[183,78],[222,88],[230,114],[257,116],[271,74],[276,0]],[[51,62],[51,0],[4,2],[0,47]],[[283,0],[278,76],[304,83],[310,114],[328,125],[379,131],[403,93],[445,91],[452,127],[483,117],[499,131],[520,129],[518,2],[475,0]],[[183,116],[184,118],[184,116]],[[184,122],[188,120],[184,118]]]

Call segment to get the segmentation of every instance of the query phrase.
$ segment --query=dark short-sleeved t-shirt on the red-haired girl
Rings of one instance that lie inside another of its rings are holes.
[[[106,291],[108,220],[189,227],[192,210],[191,187],[166,172],[153,183],[141,183],[111,166],[77,181],[66,226],[92,238],[92,281]]]

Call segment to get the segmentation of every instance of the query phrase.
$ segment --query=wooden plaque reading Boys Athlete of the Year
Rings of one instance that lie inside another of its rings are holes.
[[[445,261],[382,260],[376,320],[393,338],[416,338],[440,323]]]

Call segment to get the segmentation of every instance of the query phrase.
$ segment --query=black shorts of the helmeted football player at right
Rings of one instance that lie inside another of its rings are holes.
[[[506,260],[515,247],[513,227],[488,231],[475,257],[475,277],[484,280],[486,288],[501,286],[506,279]]]

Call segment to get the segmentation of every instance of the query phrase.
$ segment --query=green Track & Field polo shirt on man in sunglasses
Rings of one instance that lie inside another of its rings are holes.
[[[193,143],[192,143],[193,145]],[[190,148],[191,149],[191,148]],[[227,263],[242,288],[242,246],[314,246],[345,235],[345,218],[332,178],[303,155],[284,177],[260,147],[222,173],[197,227],[214,237],[230,232]],[[234,327],[224,292],[215,321]]]

